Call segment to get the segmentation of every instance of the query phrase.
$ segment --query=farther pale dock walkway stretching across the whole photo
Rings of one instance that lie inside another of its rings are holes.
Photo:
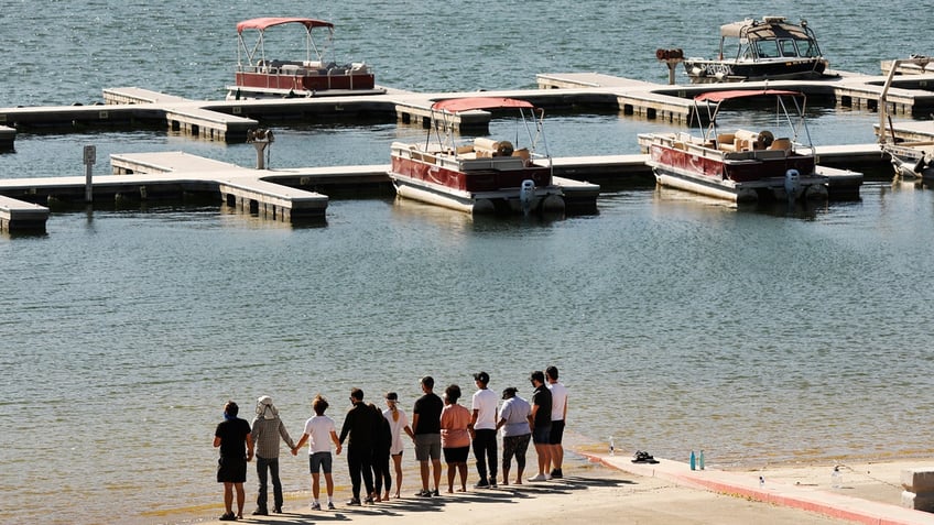
[[[536,76],[539,89],[484,91],[484,96],[513,97],[544,108],[611,108],[622,114],[649,120],[686,123],[692,118],[692,98],[717,89],[736,89],[736,84],[662,85],[597,73],[549,73]],[[875,110],[884,77],[841,74],[828,80],[743,83],[742,88],[782,87],[810,96],[836,100],[843,107]],[[897,78],[888,94],[892,112],[926,116],[934,110],[934,74]],[[384,94],[275,98],[260,100],[189,100],[137,87],[107,88],[100,106],[0,108],[0,125],[58,130],[87,127],[133,128],[163,123],[169,130],[193,138],[243,142],[260,121],[348,118],[352,116],[395,119],[403,124],[427,127],[431,105],[441,99],[477,96],[477,92],[416,94],[385,89]],[[482,130],[490,113],[465,113],[454,125]],[[901,125],[895,124],[897,136]],[[267,124],[263,124],[267,127]],[[910,132],[909,132],[910,133]],[[9,135],[7,135],[9,136]],[[3,144],[0,133],[0,145]],[[934,138],[934,130],[931,136]],[[9,140],[9,139],[8,139]]]

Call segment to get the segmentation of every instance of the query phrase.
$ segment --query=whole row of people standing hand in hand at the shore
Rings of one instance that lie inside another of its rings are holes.
[[[228,402],[224,407],[224,420],[218,424],[214,438],[214,446],[220,450],[217,481],[224,483],[225,513],[220,519],[234,521],[243,517],[247,463],[252,461],[254,453],[259,490],[253,514],[269,514],[270,481],[273,488],[272,512],[282,512],[280,440],[289,446],[293,456],[308,444],[312,510],[315,511],[322,510],[322,473],[327,491],[327,508],[335,508],[332,446],[334,451],[340,455],[345,442],[352,491],[352,497],[347,505],[351,506],[389,500],[393,472],[394,496],[400,497],[405,436],[414,442],[415,459],[419,461],[422,489],[415,495],[420,497],[439,495],[442,453],[448,467],[447,492],[454,492],[455,478],[458,478],[458,491],[466,492],[467,460],[471,446],[479,475],[474,485],[476,489],[495,489],[498,486],[498,480],[508,485],[513,458],[517,466],[513,483],[522,484],[525,452],[530,441],[537,453],[537,473],[529,478],[529,481],[563,478],[562,438],[567,416],[567,389],[558,381],[555,367],[549,367],[544,372],[532,372],[529,380],[534,389],[530,400],[522,398],[518,389],[510,386],[502,391],[500,398],[503,403],[498,407],[499,400],[489,387],[489,374],[478,372],[474,374],[477,391],[471,397],[470,409],[467,409],[458,404],[461,397],[460,386],[450,384],[443,395],[438,396],[434,393],[434,379],[424,376],[420,380],[423,395],[415,401],[411,425],[405,412],[399,407],[399,395],[395,392],[384,395],[387,408],[380,409],[372,403],[363,402],[362,390],[351,389],[351,408],[344,418],[339,434],[334,419],[325,415],[328,408],[327,400],[318,394],[312,402],[314,415],[305,422],[298,442],[294,442],[290,437],[270,396],[262,396],[257,401],[252,425],[238,417],[239,408],[236,403]],[[498,479],[497,433],[500,430],[502,477]],[[433,483],[430,483],[431,481]],[[366,494],[361,499],[362,490],[366,490]],[[236,513],[232,507],[235,492]]]

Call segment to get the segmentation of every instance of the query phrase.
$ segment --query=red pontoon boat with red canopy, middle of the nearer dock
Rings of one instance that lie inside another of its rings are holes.
[[[518,112],[511,140],[463,138],[457,122],[470,112]],[[471,214],[561,212],[543,130],[544,110],[512,98],[436,101],[425,142],[393,142],[389,177],[401,198]]]

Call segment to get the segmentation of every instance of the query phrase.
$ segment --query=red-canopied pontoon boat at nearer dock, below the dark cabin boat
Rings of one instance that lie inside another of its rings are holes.
[[[783,131],[720,129],[717,118],[728,102],[770,99]],[[805,103],[803,92],[782,89],[705,92],[694,98],[692,113],[699,133],[643,133],[639,143],[661,186],[736,203],[826,199],[828,177],[816,173]]]

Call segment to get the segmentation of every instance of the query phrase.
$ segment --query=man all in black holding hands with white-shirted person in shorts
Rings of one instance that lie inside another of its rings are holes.
[[[367,485],[367,503],[373,502],[373,437],[377,428],[372,411],[363,403],[363,391],[352,389],[350,391],[350,403],[354,408],[344,418],[344,427],[340,428],[338,441],[344,445],[347,436],[347,467],[350,469],[350,486],[354,497],[347,502],[348,505],[360,504],[360,475]]]

